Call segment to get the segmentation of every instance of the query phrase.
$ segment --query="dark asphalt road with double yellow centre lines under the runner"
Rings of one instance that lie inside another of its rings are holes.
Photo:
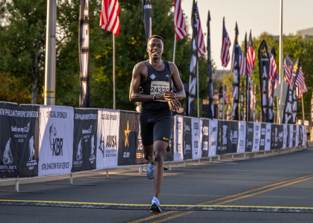
[[[111,179],[76,175],[75,186],[68,175],[20,181],[20,193],[0,192],[0,222],[313,222],[312,149],[173,165],[164,174],[159,215],[148,210],[153,180],[134,167],[110,170]],[[14,190],[14,181],[0,181],[0,191]]]

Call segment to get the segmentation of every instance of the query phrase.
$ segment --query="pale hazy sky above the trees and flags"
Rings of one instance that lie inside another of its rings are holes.
[[[181,0],[183,13],[188,17],[185,23],[191,23],[192,0]],[[231,41],[230,54],[235,39],[235,26],[239,30],[238,42],[244,42],[247,32],[247,41],[251,30],[253,37],[263,32],[279,36],[280,0],[198,0],[197,1],[202,32],[207,42],[207,17],[210,10],[211,59],[216,63],[217,70],[222,70],[221,48],[223,17],[225,27]],[[283,0],[283,33],[296,34],[298,30],[313,27],[312,0]],[[187,33],[192,35],[191,27]],[[207,45],[206,45],[207,47]],[[258,49],[254,49],[258,50]],[[257,59],[257,58],[256,58]],[[225,67],[230,70],[231,58]]]

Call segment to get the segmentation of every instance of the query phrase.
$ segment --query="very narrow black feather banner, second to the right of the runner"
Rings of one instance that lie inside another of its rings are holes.
[[[206,23],[206,26],[208,28],[208,35],[207,35],[207,52],[208,52],[208,75],[209,75],[209,113],[208,117],[213,118],[214,117],[214,105],[213,105],[213,84],[212,84],[212,67],[211,67],[211,36],[210,36],[210,11],[208,12],[208,21]]]

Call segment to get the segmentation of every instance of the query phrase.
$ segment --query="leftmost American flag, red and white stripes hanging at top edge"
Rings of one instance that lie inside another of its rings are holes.
[[[118,35],[120,32],[120,6],[118,0],[102,0],[100,28]]]

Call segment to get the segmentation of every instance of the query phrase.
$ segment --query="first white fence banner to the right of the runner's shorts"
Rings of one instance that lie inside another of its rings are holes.
[[[173,161],[182,161],[184,160],[183,152],[183,116],[175,115],[174,116],[174,156]]]

